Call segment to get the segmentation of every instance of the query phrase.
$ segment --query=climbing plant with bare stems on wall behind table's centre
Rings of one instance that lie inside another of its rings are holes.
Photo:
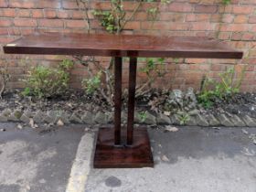
[[[111,8],[108,11],[101,9],[93,9],[92,14],[96,18],[98,18],[101,26],[109,33],[112,34],[120,34],[122,33],[124,27],[127,23],[133,20],[133,17],[140,11],[140,8],[144,3],[149,3],[149,7],[147,8],[148,20],[152,21],[152,26],[154,25],[154,21],[159,13],[160,5],[165,5],[170,3],[169,0],[134,0],[133,12],[129,13],[123,7],[123,0],[109,0],[111,2]],[[87,23],[87,32],[91,32],[91,19],[89,18],[89,10],[91,10],[91,0],[76,0],[77,5],[80,11],[83,11],[83,20]],[[158,2],[158,3],[156,3]],[[150,4],[155,3],[155,4]],[[87,93],[93,91],[99,91],[101,96],[108,101],[111,105],[113,105],[113,83],[114,83],[114,75],[113,75],[113,61],[111,59],[107,67],[103,67],[99,61],[97,61],[94,57],[82,57],[82,56],[74,56],[76,61],[85,66],[87,71],[89,71],[89,78],[83,80],[82,86],[87,90]],[[162,61],[160,61],[162,60]],[[159,59],[160,62],[164,63],[164,59]],[[159,62],[157,61],[157,62]],[[154,61],[156,62],[156,61]],[[151,88],[152,82],[155,81],[155,78],[160,77],[163,71],[157,69],[153,66],[153,60],[149,59],[146,61],[146,67],[144,68],[144,72],[147,73],[148,80],[137,87],[136,92],[137,95],[141,95],[144,92],[147,92]],[[94,68],[101,71],[101,78],[98,79],[95,77]],[[155,71],[154,69],[157,69]],[[153,75],[150,73],[158,73],[157,75]],[[101,85],[100,81],[104,81],[105,87],[98,87]],[[96,86],[95,86],[96,85]]]

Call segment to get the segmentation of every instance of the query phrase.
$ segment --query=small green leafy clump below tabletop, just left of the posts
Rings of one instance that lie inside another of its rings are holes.
[[[82,88],[86,91],[87,94],[92,94],[99,90],[101,87],[101,75],[102,73],[99,71],[92,78],[82,80]]]

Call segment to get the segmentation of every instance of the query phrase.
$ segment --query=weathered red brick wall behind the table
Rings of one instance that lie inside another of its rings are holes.
[[[225,8],[221,0],[173,0],[170,5],[161,6],[161,13],[154,26],[147,21],[144,4],[135,15],[133,21],[125,27],[129,34],[156,34],[174,36],[218,37],[228,41],[234,48],[245,51],[244,59],[167,59],[165,68],[168,70],[164,80],[157,80],[155,86],[165,88],[186,89],[188,86],[198,88],[204,75],[218,78],[219,72],[227,69],[230,64],[237,64],[240,71],[248,64],[242,91],[256,91],[255,67],[256,64],[256,1],[231,0]],[[132,14],[133,2],[126,2],[124,8]],[[109,9],[107,1],[95,1],[92,7]],[[64,31],[84,32],[86,27],[83,14],[74,0],[0,0],[0,44],[3,45],[16,37],[35,31]],[[91,26],[94,31],[102,30],[97,19],[90,14]],[[1,66],[8,64],[12,73],[9,86],[19,88],[23,83],[27,67],[19,60],[27,56],[4,55],[0,53]],[[55,65],[60,59],[56,56],[28,56],[32,64]],[[108,59],[101,59],[107,62]],[[177,62],[178,60],[178,62]],[[127,70],[127,65],[124,70]],[[123,72],[126,77],[127,72]],[[82,66],[72,70],[71,87],[80,88],[80,80],[86,75]],[[139,80],[145,80],[144,74],[139,74]],[[124,83],[127,80],[123,80]]]

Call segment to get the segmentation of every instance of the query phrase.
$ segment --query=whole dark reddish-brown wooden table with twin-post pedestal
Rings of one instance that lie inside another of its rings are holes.
[[[4,46],[8,54],[114,57],[114,125],[101,128],[95,168],[154,166],[146,128],[133,129],[137,58],[241,59],[243,53],[208,37],[144,35],[33,34]],[[127,127],[121,127],[123,57],[130,58]]]

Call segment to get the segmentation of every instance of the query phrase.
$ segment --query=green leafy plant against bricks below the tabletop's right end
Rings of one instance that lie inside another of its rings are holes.
[[[235,79],[235,69],[231,68],[220,73],[220,81],[203,79],[201,91],[197,95],[197,100],[204,107],[209,108],[213,105],[216,99],[229,100],[235,93],[240,91],[240,85],[244,79],[246,66],[241,70],[240,77]]]

